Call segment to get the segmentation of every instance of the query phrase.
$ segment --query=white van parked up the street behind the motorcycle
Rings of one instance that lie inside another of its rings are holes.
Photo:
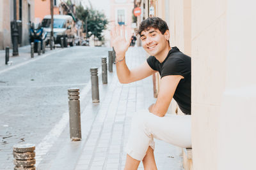
[[[51,36],[51,15],[44,17],[42,27],[47,32],[46,45],[48,45]],[[53,37],[55,44],[61,44],[61,38],[63,38],[63,45],[65,47],[67,45],[73,46],[75,44],[75,35],[76,27],[70,15],[53,15]]]

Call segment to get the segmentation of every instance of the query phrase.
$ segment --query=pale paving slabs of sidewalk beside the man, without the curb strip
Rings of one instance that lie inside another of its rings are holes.
[[[143,48],[129,48],[127,65],[132,68],[146,59]],[[99,104],[99,111],[92,129],[77,160],[76,170],[124,169],[124,148],[129,136],[131,119],[135,111],[148,108],[156,101],[153,97],[152,76],[130,84],[120,84],[115,66],[111,81],[106,88],[106,97]],[[83,131],[83,129],[82,129]],[[158,169],[181,170],[181,148],[156,141],[156,163]],[[139,169],[143,169],[141,163]]]

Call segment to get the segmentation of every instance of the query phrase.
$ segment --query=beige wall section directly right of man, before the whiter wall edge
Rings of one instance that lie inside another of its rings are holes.
[[[196,170],[216,170],[225,89],[227,1],[192,1],[192,147]]]

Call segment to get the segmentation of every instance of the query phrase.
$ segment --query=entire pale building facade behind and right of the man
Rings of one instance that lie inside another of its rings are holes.
[[[141,2],[166,20],[170,45],[192,59],[193,159],[185,169],[254,169],[255,1]]]

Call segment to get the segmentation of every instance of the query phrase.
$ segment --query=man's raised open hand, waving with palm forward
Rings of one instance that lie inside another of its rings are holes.
[[[125,39],[125,27],[122,26],[122,32],[120,26],[116,26],[115,29],[111,31],[111,36],[113,37],[113,47],[116,52],[117,59],[120,59],[125,56],[125,52],[127,52],[131,36],[128,36],[128,39]]]

